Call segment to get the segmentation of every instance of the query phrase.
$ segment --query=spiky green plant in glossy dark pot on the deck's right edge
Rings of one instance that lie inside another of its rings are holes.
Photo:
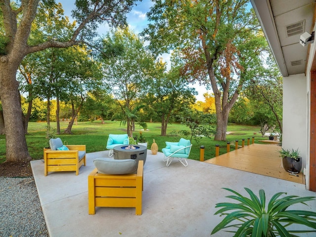
[[[298,149],[287,150],[281,149],[279,151],[280,157],[282,158],[283,168],[292,174],[301,172],[302,169],[302,157]]]

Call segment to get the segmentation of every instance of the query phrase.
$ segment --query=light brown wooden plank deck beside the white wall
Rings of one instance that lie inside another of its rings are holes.
[[[283,169],[277,152],[280,149],[281,147],[273,144],[251,144],[205,162],[305,184],[303,173],[296,177]]]

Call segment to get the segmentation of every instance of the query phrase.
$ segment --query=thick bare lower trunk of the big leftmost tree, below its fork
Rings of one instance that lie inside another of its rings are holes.
[[[18,63],[0,63],[0,95],[3,111],[3,121],[6,135],[6,160],[28,161],[31,156],[25,138],[22,119],[19,84],[16,81]]]

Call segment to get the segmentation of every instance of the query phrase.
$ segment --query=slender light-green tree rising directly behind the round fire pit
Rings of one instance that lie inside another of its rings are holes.
[[[103,45],[104,83],[120,108],[115,118],[125,121],[127,134],[132,136],[134,122],[139,120],[137,112],[142,108],[139,100],[146,93],[154,58],[128,28],[108,34]]]

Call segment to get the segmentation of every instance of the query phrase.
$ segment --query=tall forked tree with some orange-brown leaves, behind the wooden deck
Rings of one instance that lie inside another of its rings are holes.
[[[144,31],[157,52],[181,51],[183,74],[211,85],[215,97],[215,140],[226,140],[229,112],[245,82],[257,73],[267,48],[248,0],[157,0]]]

